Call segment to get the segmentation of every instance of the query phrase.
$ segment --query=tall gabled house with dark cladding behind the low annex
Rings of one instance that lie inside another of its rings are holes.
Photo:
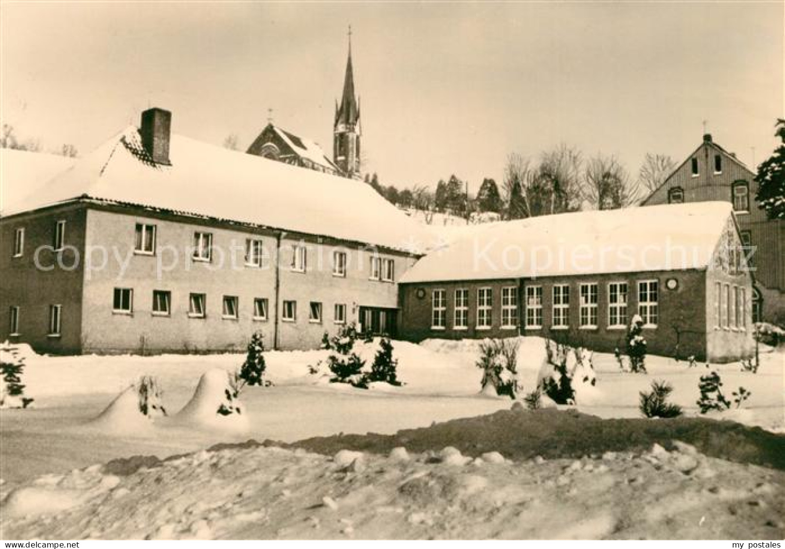
[[[723,200],[731,203],[754,274],[753,319],[785,324],[785,221],[758,208],[755,174],[710,134],[643,206]]]

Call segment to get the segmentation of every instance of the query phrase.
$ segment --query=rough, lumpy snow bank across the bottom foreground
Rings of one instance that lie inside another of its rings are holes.
[[[782,538],[783,471],[676,448],[521,463],[455,448],[197,452],[126,476],[94,466],[38,478],[5,500],[0,529],[69,540]]]

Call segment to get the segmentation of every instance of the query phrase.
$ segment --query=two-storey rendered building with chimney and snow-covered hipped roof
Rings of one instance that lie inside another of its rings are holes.
[[[395,333],[422,225],[361,181],[170,123],[149,109],[46,185],[3,168],[4,185],[32,192],[13,192],[0,218],[0,341],[155,353],[238,350],[254,331],[315,348],[351,321]]]

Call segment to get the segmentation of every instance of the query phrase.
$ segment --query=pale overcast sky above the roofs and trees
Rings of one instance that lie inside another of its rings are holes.
[[[247,147],[267,123],[331,155],[352,24],[367,169],[476,189],[566,142],[684,159],[703,120],[751,164],[783,116],[783,3],[2,3],[2,121],[88,152],[148,106]]]

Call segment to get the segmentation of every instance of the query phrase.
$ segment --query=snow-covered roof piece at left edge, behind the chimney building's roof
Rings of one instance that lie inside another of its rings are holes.
[[[75,158],[0,148],[0,214],[71,167]]]

